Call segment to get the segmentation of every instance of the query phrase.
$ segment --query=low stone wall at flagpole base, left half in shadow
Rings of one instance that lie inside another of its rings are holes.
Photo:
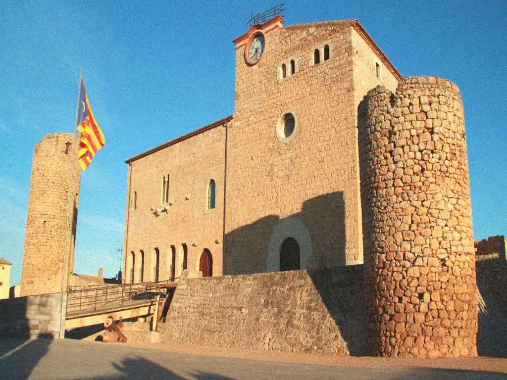
[[[62,329],[64,335],[65,305],[63,293]],[[58,337],[60,293],[30,295],[0,300],[0,336]]]

